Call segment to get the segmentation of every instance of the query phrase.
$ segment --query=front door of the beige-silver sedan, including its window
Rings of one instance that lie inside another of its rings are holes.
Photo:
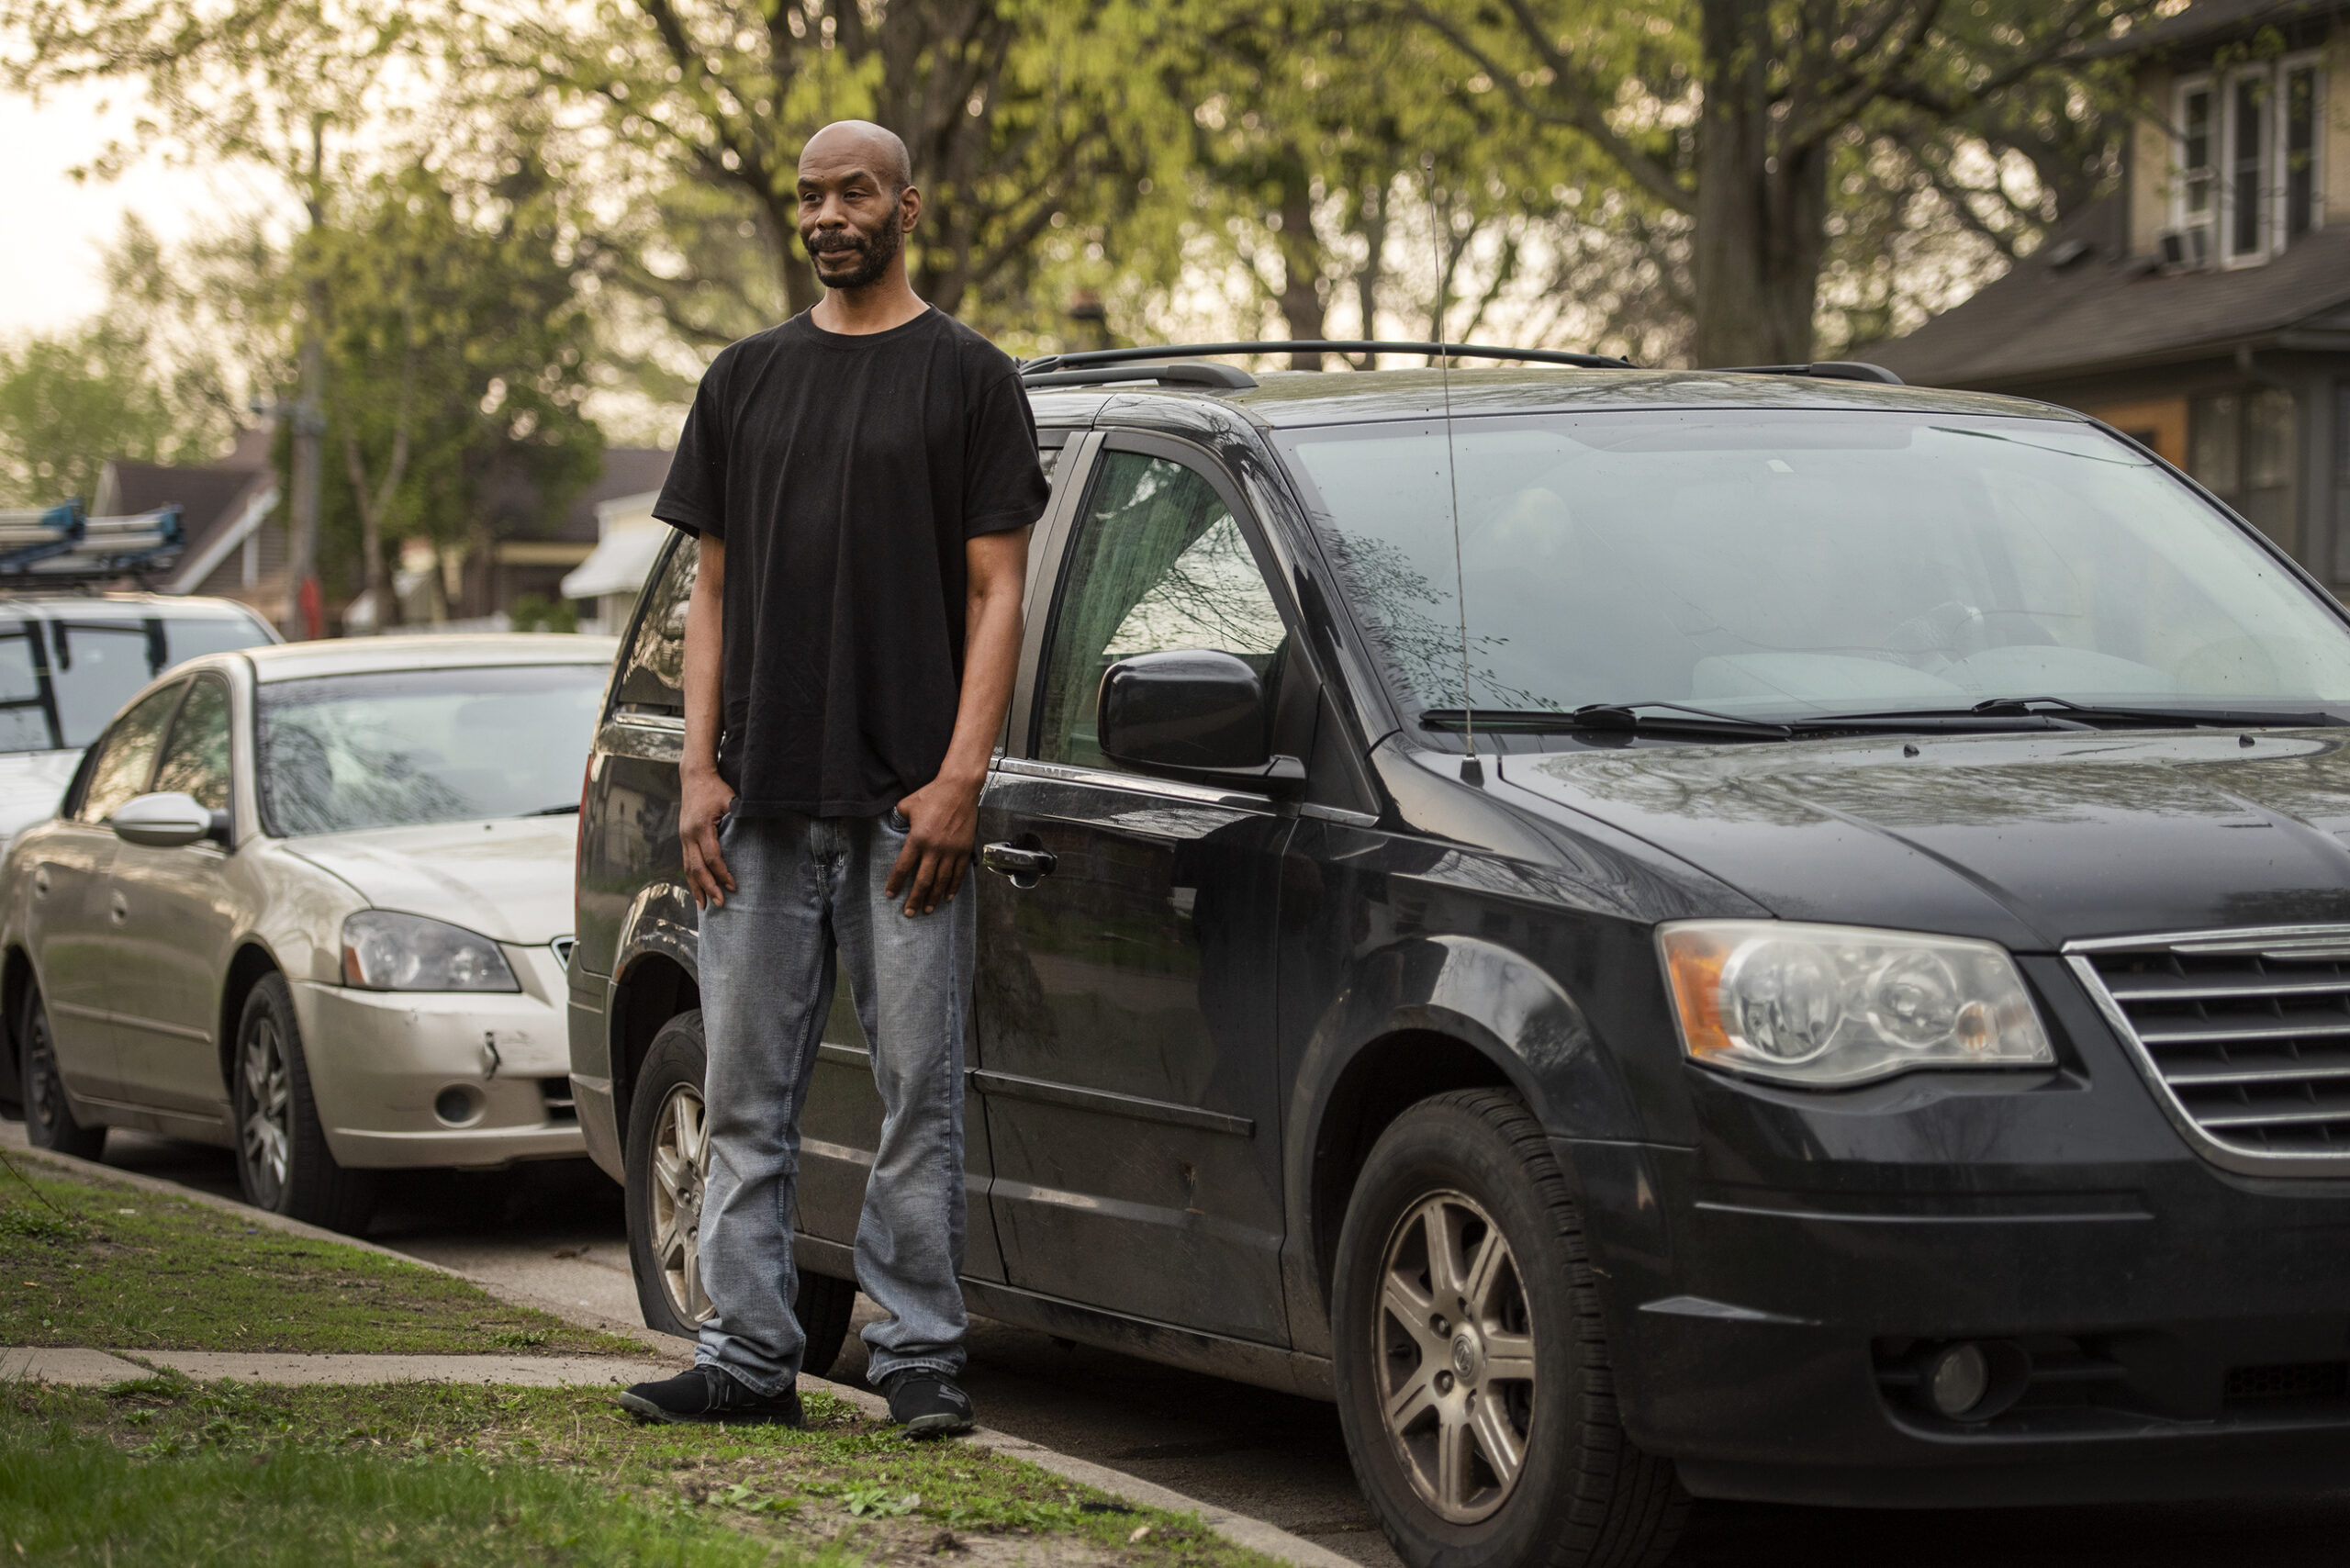
[[[228,682],[197,675],[172,717],[153,788],[230,811],[230,733]],[[143,1107],[212,1119],[228,1103],[219,1006],[240,924],[228,865],[228,849],[212,839],[115,849],[115,1056],[125,1093]]]

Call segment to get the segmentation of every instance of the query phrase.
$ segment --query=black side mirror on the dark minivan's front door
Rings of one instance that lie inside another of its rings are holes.
[[[1135,654],[1102,677],[1095,733],[1121,766],[1257,790],[1302,783],[1304,764],[1274,757],[1269,729],[1264,682],[1231,654]]]

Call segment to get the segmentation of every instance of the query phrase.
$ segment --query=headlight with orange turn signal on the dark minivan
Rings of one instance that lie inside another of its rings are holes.
[[[1998,943],[1779,919],[1659,926],[1692,1063],[1807,1086],[1911,1067],[2052,1067]]]

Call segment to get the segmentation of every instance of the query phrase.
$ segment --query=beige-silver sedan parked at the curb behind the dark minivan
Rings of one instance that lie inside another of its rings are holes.
[[[237,1150],[360,1229],[388,1166],[580,1152],[564,959],[606,637],[381,637],[179,665],[0,860],[33,1143]]]

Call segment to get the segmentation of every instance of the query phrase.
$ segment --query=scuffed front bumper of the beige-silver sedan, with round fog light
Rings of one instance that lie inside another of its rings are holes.
[[[479,1168],[583,1154],[562,1009],[538,980],[463,994],[298,983],[310,1093],[336,1161]]]

